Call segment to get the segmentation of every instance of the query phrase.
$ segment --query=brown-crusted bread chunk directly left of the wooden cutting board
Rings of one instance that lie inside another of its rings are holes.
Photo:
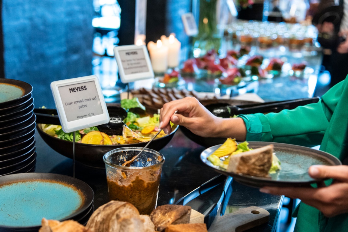
[[[154,209],[150,218],[157,231],[163,231],[171,224],[190,223],[191,207],[179,205],[163,205]]]

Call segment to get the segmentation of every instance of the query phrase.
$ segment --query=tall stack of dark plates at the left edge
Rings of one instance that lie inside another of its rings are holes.
[[[0,176],[35,171],[33,87],[0,79]]]

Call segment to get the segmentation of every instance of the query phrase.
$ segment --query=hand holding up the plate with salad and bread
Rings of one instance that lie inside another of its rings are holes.
[[[301,199],[319,209],[326,217],[348,212],[348,166],[314,165],[308,170],[312,178],[333,178],[327,187],[263,187],[260,192]]]

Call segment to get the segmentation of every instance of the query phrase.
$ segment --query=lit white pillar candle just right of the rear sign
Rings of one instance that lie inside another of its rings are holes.
[[[150,41],[148,43],[148,50],[154,72],[162,73],[168,69],[168,48],[162,45],[160,40],[157,43]]]

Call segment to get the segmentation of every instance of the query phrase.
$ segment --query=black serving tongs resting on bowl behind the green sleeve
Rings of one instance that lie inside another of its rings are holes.
[[[211,104],[207,105],[206,108],[217,117],[229,118],[238,114],[279,112],[284,109],[291,110],[301,105],[317,103],[319,99],[319,97],[300,98],[288,101],[255,103],[249,105],[219,106],[219,104]]]

